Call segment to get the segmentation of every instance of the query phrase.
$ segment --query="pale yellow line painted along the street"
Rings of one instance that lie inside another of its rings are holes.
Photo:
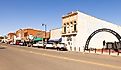
[[[93,64],[93,65],[98,65],[98,66],[103,66],[103,67],[114,68],[114,69],[121,69],[120,66],[115,66],[115,65],[110,65],[110,64],[103,64],[103,63],[98,63],[98,62],[73,59],[73,58],[69,58],[69,57],[55,56],[55,55],[50,55],[50,54],[45,54],[45,53],[37,53],[37,52],[33,52],[33,51],[26,51],[26,50],[20,50],[20,51],[24,51],[24,52],[31,53],[31,54],[37,54],[37,55],[41,55],[41,56],[52,57],[52,58],[70,60],[70,61],[75,61],[75,62],[80,62],[80,63],[85,63],[85,64]]]

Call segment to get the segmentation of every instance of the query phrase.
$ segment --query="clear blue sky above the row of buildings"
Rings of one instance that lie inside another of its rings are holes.
[[[20,28],[61,27],[62,15],[79,10],[121,25],[121,0],[0,0],[0,35]]]

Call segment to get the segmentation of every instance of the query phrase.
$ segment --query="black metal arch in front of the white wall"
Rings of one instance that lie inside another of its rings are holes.
[[[116,36],[116,38],[117,38],[117,39],[119,40],[119,42],[121,43],[121,36],[120,36],[117,32],[115,32],[115,31],[113,31],[113,30],[111,30],[111,29],[102,28],[102,29],[98,29],[98,30],[94,31],[94,32],[88,37],[88,39],[87,39],[87,41],[86,41],[86,44],[85,44],[84,50],[88,50],[88,46],[89,46],[89,42],[90,42],[91,38],[92,38],[95,34],[97,34],[97,33],[99,33],[99,32],[109,32],[109,33],[113,34],[114,36]]]

